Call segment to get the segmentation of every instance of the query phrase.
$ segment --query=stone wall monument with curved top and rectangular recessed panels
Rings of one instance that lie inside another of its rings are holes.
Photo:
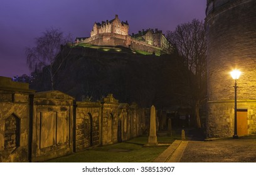
[[[73,153],[73,100],[60,91],[35,93],[32,161]]]

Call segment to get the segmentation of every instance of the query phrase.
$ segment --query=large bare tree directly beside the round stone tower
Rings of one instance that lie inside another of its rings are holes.
[[[194,78],[189,78],[191,84],[191,98],[195,101],[196,125],[201,128],[200,104],[206,96],[206,36],[202,21],[193,21],[180,24],[175,31],[168,31],[167,38],[173,49],[183,59]]]

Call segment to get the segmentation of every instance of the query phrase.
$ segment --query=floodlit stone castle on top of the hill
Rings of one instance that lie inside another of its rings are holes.
[[[149,53],[170,53],[170,44],[162,31],[148,29],[130,36],[128,22],[120,21],[117,14],[110,21],[95,22],[90,37],[77,37],[75,42],[97,46],[124,46]]]

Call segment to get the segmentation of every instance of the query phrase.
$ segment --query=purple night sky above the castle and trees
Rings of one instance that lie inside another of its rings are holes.
[[[1,0],[0,76],[29,74],[25,47],[50,27],[75,37],[90,36],[93,23],[129,22],[129,34],[142,29],[173,31],[178,24],[205,19],[206,0]]]

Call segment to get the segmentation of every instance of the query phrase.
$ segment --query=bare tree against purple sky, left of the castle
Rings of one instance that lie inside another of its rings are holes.
[[[43,35],[35,38],[36,46],[26,48],[27,64],[31,71],[45,68],[50,74],[51,90],[54,89],[55,75],[61,67],[63,61],[67,58],[61,53],[61,47],[71,41],[71,35],[65,34],[60,29],[46,29]],[[55,61],[58,59],[58,64]],[[54,66],[55,65],[55,66]]]

